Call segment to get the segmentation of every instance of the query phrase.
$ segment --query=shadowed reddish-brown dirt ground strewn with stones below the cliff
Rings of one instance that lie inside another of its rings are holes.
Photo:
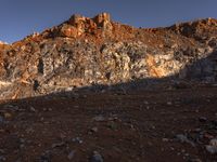
[[[0,161],[217,161],[217,87],[87,93],[2,104]],[[176,135],[187,135],[181,143]],[[72,151],[74,153],[72,153]],[[72,157],[68,157],[71,153]]]

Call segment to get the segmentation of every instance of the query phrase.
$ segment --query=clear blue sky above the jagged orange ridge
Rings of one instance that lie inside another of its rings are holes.
[[[92,17],[101,12],[136,27],[158,27],[217,18],[217,0],[1,0],[0,40],[14,42],[59,25],[74,13]]]

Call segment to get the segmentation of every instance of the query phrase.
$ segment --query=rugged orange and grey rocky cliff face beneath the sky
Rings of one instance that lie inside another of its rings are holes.
[[[0,98],[166,78],[217,81],[217,19],[143,29],[73,15],[13,44],[0,43]]]

